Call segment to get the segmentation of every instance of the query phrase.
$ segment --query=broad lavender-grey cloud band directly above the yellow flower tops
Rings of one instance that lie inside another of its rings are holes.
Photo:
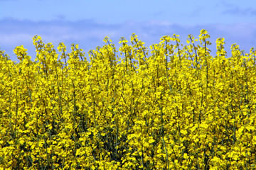
[[[80,47],[88,52],[97,46],[105,45],[102,41],[105,36],[110,37],[115,45],[118,45],[119,38],[124,37],[130,39],[132,33],[138,35],[139,40],[146,42],[149,47],[154,43],[159,43],[159,39],[163,35],[180,35],[181,42],[186,44],[188,34],[192,34],[195,38],[200,34],[201,29],[208,30],[213,45],[210,49],[215,52],[215,40],[223,37],[226,42],[226,49],[230,51],[230,45],[238,43],[240,47],[246,51],[250,47],[256,45],[256,24],[233,24],[233,25],[201,25],[201,26],[181,26],[170,23],[168,21],[146,21],[146,22],[126,22],[117,25],[108,25],[105,23],[97,23],[92,20],[87,21],[18,21],[11,18],[0,20],[0,47],[11,56],[14,57],[14,47],[24,45],[28,49],[28,55],[32,59],[36,57],[35,47],[33,47],[33,35],[40,35],[43,42],[53,42],[55,47],[59,42],[64,42],[70,49],[72,43],[80,45]],[[213,54],[214,55],[214,54]]]

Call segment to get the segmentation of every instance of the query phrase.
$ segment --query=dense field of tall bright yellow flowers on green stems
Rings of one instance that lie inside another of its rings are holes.
[[[208,38],[0,51],[0,169],[256,169],[255,49]]]

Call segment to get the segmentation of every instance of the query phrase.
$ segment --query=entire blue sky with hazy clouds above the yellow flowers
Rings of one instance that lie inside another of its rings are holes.
[[[33,35],[43,42],[53,42],[55,48],[72,43],[85,52],[105,45],[109,36],[118,46],[122,36],[129,40],[132,33],[146,46],[158,43],[163,35],[180,35],[186,44],[188,34],[198,37],[208,30],[210,49],[215,52],[215,40],[225,38],[249,52],[256,47],[256,1],[87,1],[87,0],[0,0],[0,47],[15,60],[14,47],[24,45],[32,59],[36,57]],[[229,57],[229,56],[228,56]]]

